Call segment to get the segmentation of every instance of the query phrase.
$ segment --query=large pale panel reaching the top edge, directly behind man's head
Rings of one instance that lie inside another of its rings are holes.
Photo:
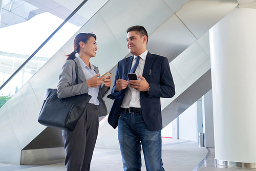
[[[113,0],[105,4],[99,13],[123,49],[129,53],[126,47],[127,28],[141,25],[151,34],[174,12],[163,0]]]

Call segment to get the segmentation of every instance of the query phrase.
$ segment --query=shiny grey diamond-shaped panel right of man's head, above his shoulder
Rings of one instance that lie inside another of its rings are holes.
[[[168,58],[169,62],[182,53],[196,37],[173,15],[148,38],[147,49]]]

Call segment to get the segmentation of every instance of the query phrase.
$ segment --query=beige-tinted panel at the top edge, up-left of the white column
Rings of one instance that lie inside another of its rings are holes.
[[[199,38],[237,5],[237,0],[190,0],[176,14]]]

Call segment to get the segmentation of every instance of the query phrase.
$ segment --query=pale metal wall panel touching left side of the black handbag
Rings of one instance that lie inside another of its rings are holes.
[[[5,105],[14,133],[23,149],[43,128],[37,122],[40,105],[29,82]]]

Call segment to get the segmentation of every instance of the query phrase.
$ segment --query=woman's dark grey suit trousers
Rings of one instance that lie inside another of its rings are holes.
[[[62,130],[67,171],[87,171],[98,136],[99,112],[96,105],[88,103],[86,112],[79,119],[75,130]]]

